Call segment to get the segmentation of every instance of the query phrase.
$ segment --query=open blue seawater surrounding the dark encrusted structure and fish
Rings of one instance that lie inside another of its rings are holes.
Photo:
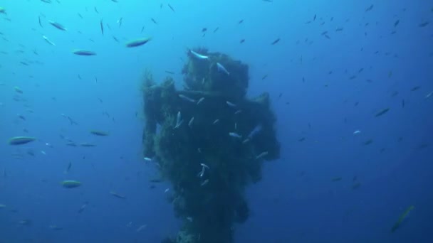
[[[142,160],[140,85],[145,70],[158,81],[172,70],[182,87],[186,52],[199,46],[247,63],[249,96],[269,92],[278,117],[281,159],[266,162],[263,180],[248,188],[251,217],[236,225],[236,242],[433,242],[433,1],[10,0],[0,7],[0,242],[174,236],[180,222],[165,200],[170,185],[150,188],[155,166]],[[125,48],[140,37],[152,41]],[[97,55],[73,55],[75,48]],[[38,140],[11,146],[11,136]],[[68,179],[83,185],[62,188]]]

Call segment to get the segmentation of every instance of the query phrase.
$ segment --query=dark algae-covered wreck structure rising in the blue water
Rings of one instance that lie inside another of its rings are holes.
[[[146,75],[143,84],[145,157],[172,183],[168,198],[183,220],[163,242],[231,243],[234,224],[249,217],[246,185],[279,158],[276,117],[267,93],[246,98],[247,65],[206,49],[188,55],[183,90],[170,77],[156,85]]]

